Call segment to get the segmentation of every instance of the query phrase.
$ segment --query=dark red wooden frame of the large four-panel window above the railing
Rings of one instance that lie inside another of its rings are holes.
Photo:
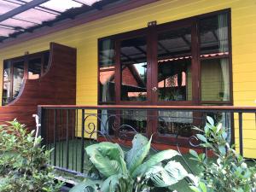
[[[211,59],[214,58],[228,58],[229,60],[229,73],[230,73],[230,100],[229,101],[201,101],[201,60],[205,60],[206,58],[201,59],[201,50],[200,50],[200,20],[214,16],[219,14],[227,14],[227,20],[228,20],[228,42],[229,42],[229,55],[221,55],[221,56],[214,56],[211,57]],[[173,101],[173,102],[157,102],[157,105],[233,105],[233,78],[232,78],[232,42],[231,42],[231,9],[222,9],[218,11],[214,11],[211,13],[203,14],[203,15],[196,15],[193,17],[185,18],[182,20],[174,20],[171,22],[163,23],[156,26],[148,26],[145,28],[137,29],[131,32],[123,32],[119,34],[115,34],[112,36],[99,38],[98,39],[98,45],[100,44],[100,41],[103,39],[112,39],[115,44],[115,102],[101,102],[100,101],[100,66],[99,66],[99,46],[98,46],[98,62],[97,62],[97,68],[98,68],[98,104],[137,104],[137,102],[120,102],[120,66],[119,66],[119,42],[120,40],[125,39],[125,37],[138,37],[138,36],[146,36],[148,37],[148,34],[153,34],[152,39],[147,39],[147,46],[148,46],[148,55],[154,54],[154,57],[157,57],[156,49],[157,49],[157,34],[160,32],[165,32],[168,30],[172,30],[174,28],[178,28],[181,26],[191,26],[191,55],[192,55],[192,100],[191,101]],[[149,44],[148,44],[149,42]],[[150,57],[151,61],[148,60],[148,62],[155,62],[154,60],[156,58]],[[149,72],[150,73],[150,72]],[[152,81],[152,76],[150,75],[150,79]],[[148,82],[148,84],[151,83],[151,81]],[[151,99],[150,96],[148,99]],[[141,105],[144,104],[150,104],[149,102],[140,102]]]

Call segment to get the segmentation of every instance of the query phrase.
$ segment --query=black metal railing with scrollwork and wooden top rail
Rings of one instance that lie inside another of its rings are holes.
[[[129,147],[134,134],[140,132],[153,135],[153,148],[161,149],[161,144],[178,150],[198,148],[193,127],[204,127],[206,117],[212,116],[227,129],[230,143],[239,141],[235,144],[243,154],[243,130],[256,129],[253,107],[39,106],[38,116],[44,145],[53,148],[51,164],[73,173],[86,172],[84,148],[94,142],[107,140]]]

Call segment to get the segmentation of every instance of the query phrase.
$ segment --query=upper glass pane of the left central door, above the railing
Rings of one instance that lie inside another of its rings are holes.
[[[121,100],[147,100],[147,42],[145,37],[121,42]]]

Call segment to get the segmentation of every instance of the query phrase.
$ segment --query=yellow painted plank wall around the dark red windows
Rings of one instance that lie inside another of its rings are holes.
[[[0,50],[4,59],[48,49],[49,42],[78,49],[77,104],[97,101],[97,38],[147,26],[231,8],[233,89],[235,106],[256,106],[256,1],[255,0],[161,0],[141,8],[92,21],[42,38]],[[0,65],[0,70],[2,69]],[[2,73],[0,73],[2,75]],[[0,77],[2,84],[2,78]],[[0,89],[1,91],[2,89]],[[2,96],[2,93],[0,93]],[[245,155],[256,158],[255,126],[244,127]],[[236,138],[238,135],[236,134]]]

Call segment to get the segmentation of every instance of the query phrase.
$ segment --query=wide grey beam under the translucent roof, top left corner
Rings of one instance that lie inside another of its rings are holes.
[[[19,15],[20,13],[28,10],[28,9],[32,9],[34,7],[37,7],[39,4],[48,2],[49,0],[33,0],[29,3],[26,3],[24,5],[20,5],[20,7],[15,8],[10,10],[9,12],[0,15],[0,22],[2,22],[3,20],[8,20],[9,18],[15,16],[15,15]]]

